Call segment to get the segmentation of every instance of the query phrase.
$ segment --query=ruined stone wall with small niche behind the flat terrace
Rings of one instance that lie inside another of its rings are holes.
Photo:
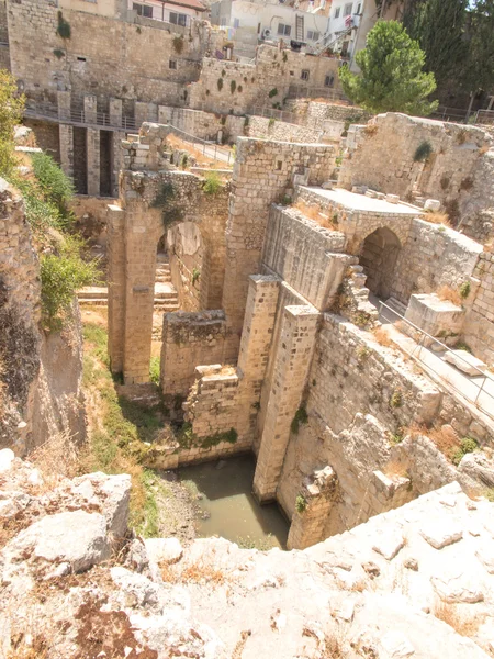
[[[379,114],[367,126],[350,127],[338,185],[366,185],[402,199],[438,199],[458,223],[494,204],[492,185],[485,187],[492,144],[476,126]],[[419,147],[428,157],[418,159]]]

